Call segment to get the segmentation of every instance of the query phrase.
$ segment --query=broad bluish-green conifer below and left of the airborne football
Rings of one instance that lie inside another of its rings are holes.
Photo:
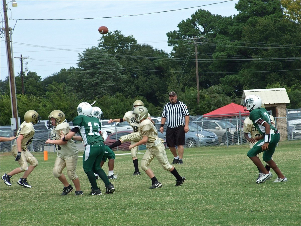
[[[76,93],[79,99],[90,101],[123,89],[125,76],[120,73],[121,65],[98,47],[93,46],[79,54],[78,67],[79,71],[68,75],[67,91]]]

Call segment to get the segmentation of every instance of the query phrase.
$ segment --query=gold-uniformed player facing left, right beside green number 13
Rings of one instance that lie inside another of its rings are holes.
[[[61,140],[61,132],[67,134],[70,131],[69,123],[65,122],[65,114],[60,110],[51,111],[48,118],[49,121],[47,122],[47,126],[48,129],[51,130],[52,140],[48,139],[45,143],[54,144],[57,151],[57,158],[55,159],[52,172],[54,177],[57,177],[62,184],[64,184],[63,193],[61,195],[67,195],[73,190],[72,185],[69,184],[63,174],[65,167],[67,167],[67,175],[69,179],[73,181],[75,186],[75,195],[82,195],[83,192],[80,189],[79,178],[76,175],[78,149],[74,140]]]

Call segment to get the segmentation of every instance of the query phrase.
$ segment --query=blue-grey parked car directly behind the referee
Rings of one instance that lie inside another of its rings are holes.
[[[163,133],[160,133],[160,124],[156,125],[158,131],[158,137],[162,139],[166,139],[166,128],[164,126]],[[200,130],[200,127],[197,124],[190,122],[189,123],[189,131],[185,133],[185,147],[192,148],[192,147],[199,147],[199,146],[208,146],[208,145],[218,145],[218,137],[215,133],[207,131],[207,130]]]

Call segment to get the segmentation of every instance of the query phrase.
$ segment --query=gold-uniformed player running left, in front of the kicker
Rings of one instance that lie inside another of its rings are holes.
[[[136,107],[133,111],[135,114],[136,120],[140,123],[138,127],[138,133],[141,135],[142,140],[137,143],[130,145],[129,149],[132,149],[135,146],[146,144],[147,150],[144,153],[144,156],[141,160],[141,169],[145,171],[147,176],[152,180],[152,186],[150,189],[162,187],[162,184],[157,180],[154,175],[154,172],[149,168],[151,161],[156,157],[163,169],[168,170],[176,178],[175,186],[181,186],[185,177],[181,177],[178,171],[174,166],[170,165],[167,159],[165,146],[162,143],[162,140],[158,137],[158,132],[154,124],[147,118],[148,110],[143,106]]]

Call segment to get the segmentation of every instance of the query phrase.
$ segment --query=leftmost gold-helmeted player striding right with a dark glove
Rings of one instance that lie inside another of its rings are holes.
[[[38,160],[29,152],[27,145],[33,140],[35,134],[34,124],[40,121],[41,117],[34,110],[26,111],[24,115],[23,123],[20,125],[16,139],[14,140],[13,146],[11,147],[11,153],[14,155],[15,160],[20,164],[20,167],[15,168],[13,171],[2,176],[2,180],[8,186],[11,186],[11,177],[15,174],[24,172],[17,184],[23,187],[31,188],[28,184],[27,177],[29,174],[39,165]],[[28,166],[28,163],[30,164]]]

